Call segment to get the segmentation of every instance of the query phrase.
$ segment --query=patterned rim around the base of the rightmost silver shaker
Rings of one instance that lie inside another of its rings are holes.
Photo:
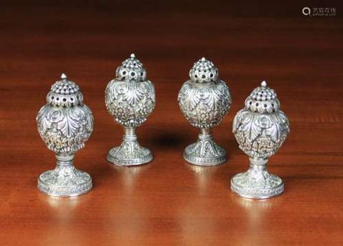
[[[245,188],[235,184],[234,177],[231,178],[231,190],[237,193],[240,197],[250,199],[268,199],[281,195],[285,190],[285,184],[283,181],[281,184],[271,188]]]

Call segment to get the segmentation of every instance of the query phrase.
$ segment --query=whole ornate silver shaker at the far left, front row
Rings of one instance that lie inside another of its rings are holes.
[[[74,153],[84,147],[93,132],[93,115],[83,103],[78,85],[62,74],[51,86],[47,104],[40,108],[36,121],[40,137],[57,159],[54,170],[38,177],[38,188],[58,197],[74,197],[91,190],[91,176],[73,166]]]

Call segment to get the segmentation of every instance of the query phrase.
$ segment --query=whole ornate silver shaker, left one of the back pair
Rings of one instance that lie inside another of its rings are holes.
[[[121,145],[108,152],[107,160],[113,164],[132,166],[152,160],[151,151],[139,145],[135,134],[135,128],[146,121],[156,103],[154,84],[146,75],[143,64],[131,54],[106,87],[106,108],[125,131]]]

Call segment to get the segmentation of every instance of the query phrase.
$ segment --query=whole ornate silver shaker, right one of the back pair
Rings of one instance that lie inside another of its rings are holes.
[[[200,134],[196,143],[186,147],[183,157],[201,166],[222,164],[226,161],[226,151],[213,140],[211,128],[230,109],[230,89],[219,79],[214,64],[205,58],[194,63],[189,77],[178,93],[178,103],[187,121],[200,128]]]

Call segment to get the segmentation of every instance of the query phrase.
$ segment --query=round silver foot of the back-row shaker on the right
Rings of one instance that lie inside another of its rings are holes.
[[[191,164],[198,166],[215,166],[226,162],[226,151],[219,145],[211,145],[209,148],[199,148],[202,143],[193,143],[186,147],[183,158]],[[213,151],[214,149],[214,151]],[[200,150],[200,151],[198,151]]]

